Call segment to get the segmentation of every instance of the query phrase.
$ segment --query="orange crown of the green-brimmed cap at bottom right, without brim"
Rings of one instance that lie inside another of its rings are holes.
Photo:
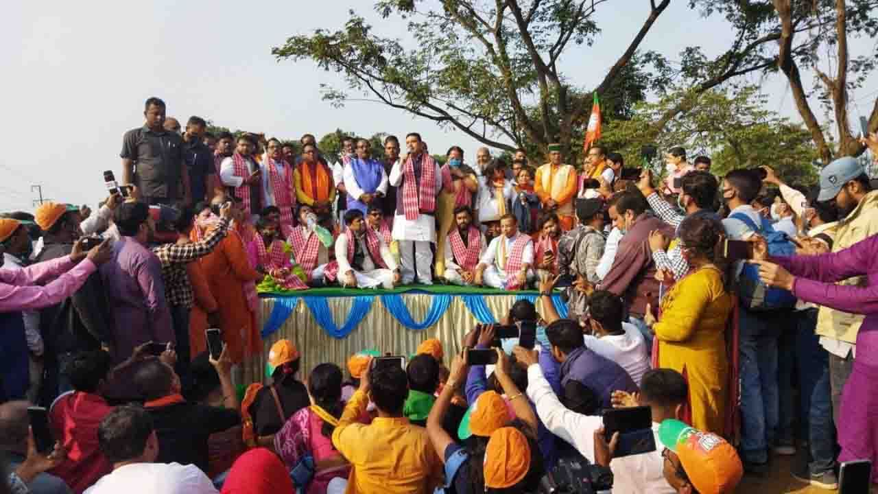
[[[711,432],[689,434],[676,453],[689,481],[702,494],[733,492],[744,475],[735,448]]]

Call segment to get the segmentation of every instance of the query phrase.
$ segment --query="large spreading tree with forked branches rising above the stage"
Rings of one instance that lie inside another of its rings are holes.
[[[689,0],[704,16],[722,15],[732,36],[730,47],[714,58],[687,47],[679,64],[641,47],[670,0],[641,0],[637,5],[648,5],[649,12],[637,33],[596,87],[582,87],[565,76],[563,55],[572,46],[594,42],[601,33],[595,12],[610,1],[378,0],[376,9],[384,18],[408,20],[416,47],[372,33],[371,25],[350,11],[342,29],[292,36],[272,53],[279,60],[312,60],[341,74],[350,90],[440,126],[456,127],[493,148],[530,145],[541,152],[556,140],[568,150],[578,148],[574,144],[581,142],[593,91],[614,113],[625,116],[643,88],[662,93],[684,89],[685,84],[698,94],[737,76],[777,67],[774,46],[781,39],[781,25],[764,0]],[[616,0],[614,5],[631,11],[632,4],[634,0]],[[815,18],[792,29],[804,33],[830,21]],[[796,43],[791,56],[810,53],[809,40],[802,36]],[[578,54],[576,62],[581,60]],[[637,72],[637,63],[650,69]],[[336,105],[349,100],[346,88],[324,89],[324,98]],[[688,100],[668,107],[654,121],[651,134],[660,134],[688,109]]]

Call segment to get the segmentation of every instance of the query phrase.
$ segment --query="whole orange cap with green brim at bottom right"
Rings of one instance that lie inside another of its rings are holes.
[[[733,492],[744,475],[738,452],[713,432],[668,419],[659,425],[659,439],[680,457],[689,482],[702,494]]]

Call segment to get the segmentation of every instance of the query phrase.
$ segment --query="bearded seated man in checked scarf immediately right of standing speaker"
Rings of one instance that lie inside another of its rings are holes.
[[[485,252],[485,236],[472,224],[472,209],[459,206],[454,210],[456,229],[445,237],[445,280],[455,285],[471,285],[476,279],[476,266]]]

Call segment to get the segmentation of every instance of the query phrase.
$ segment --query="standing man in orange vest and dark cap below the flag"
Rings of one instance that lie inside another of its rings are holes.
[[[558,214],[561,228],[573,228],[573,197],[576,195],[576,170],[561,163],[561,145],[549,145],[549,161],[536,169],[534,192],[543,202],[543,210]]]

